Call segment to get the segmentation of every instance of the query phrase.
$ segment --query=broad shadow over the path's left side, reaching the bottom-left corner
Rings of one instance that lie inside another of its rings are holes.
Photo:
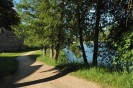
[[[0,88],[15,88],[12,85],[21,79],[24,79],[25,77],[31,75],[34,73],[36,70],[38,70],[42,65],[36,65],[36,66],[31,66],[35,61],[36,58],[39,55],[26,55],[26,56],[20,56],[18,57],[21,59],[19,61],[19,64],[22,65],[20,69],[17,70],[16,74],[12,76],[8,76],[0,81]],[[27,61],[30,58],[30,61]],[[20,75],[22,74],[22,75]]]

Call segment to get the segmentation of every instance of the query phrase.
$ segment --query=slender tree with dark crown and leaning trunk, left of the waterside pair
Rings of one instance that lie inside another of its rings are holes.
[[[65,8],[65,21],[67,24],[67,31],[70,35],[79,41],[84,64],[88,64],[85,49],[83,46],[84,36],[88,33],[89,28],[87,24],[88,12],[91,8],[92,0],[68,0]]]

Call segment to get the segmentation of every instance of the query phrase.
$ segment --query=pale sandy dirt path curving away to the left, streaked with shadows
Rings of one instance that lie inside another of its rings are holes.
[[[100,88],[96,83],[70,76],[67,72],[59,72],[52,66],[31,60],[28,55],[33,52],[17,58],[20,63],[19,70],[8,88]]]

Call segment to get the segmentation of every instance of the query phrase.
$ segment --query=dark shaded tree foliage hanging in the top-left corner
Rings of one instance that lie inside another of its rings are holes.
[[[12,0],[0,0],[0,27],[11,30],[12,26],[20,23],[20,17],[13,9]]]

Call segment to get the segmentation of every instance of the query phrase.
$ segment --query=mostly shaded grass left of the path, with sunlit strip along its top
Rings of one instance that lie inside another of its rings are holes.
[[[12,75],[17,71],[18,61],[16,57],[25,52],[15,53],[0,53],[0,78]]]

